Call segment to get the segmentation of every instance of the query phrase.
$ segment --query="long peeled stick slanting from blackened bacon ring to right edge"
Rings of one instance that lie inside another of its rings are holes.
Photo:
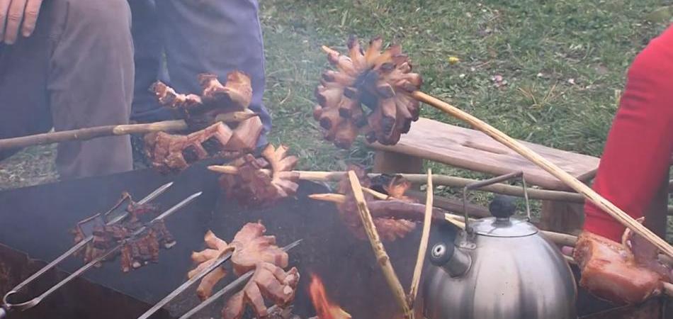
[[[589,186],[582,183],[582,181],[577,180],[575,177],[572,177],[572,175],[560,169],[560,167],[556,166],[548,159],[545,159],[545,157],[542,157],[538,153],[533,152],[533,150],[530,148],[522,145],[520,142],[517,142],[514,140],[514,138],[510,138],[505,133],[502,133],[500,130],[497,130],[484,121],[481,121],[479,118],[476,118],[475,116],[472,116],[449,103],[441,101],[440,99],[436,99],[433,96],[429,96],[428,94],[425,94],[421,91],[414,91],[414,93],[411,95],[418,101],[422,101],[423,103],[429,104],[430,106],[434,106],[444,113],[465,121],[465,123],[472,125],[478,130],[481,130],[483,133],[489,135],[494,140],[501,142],[511,150],[519,153],[519,155],[526,157],[526,159],[535,163],[538,165],[538,167],[541,167],[549,174],[552,174],[554,177],[560,179],[560,181],[565,183],[567,186],[570,186],[570,188],[575,189],[575,191],[577,191],[579,194],[582,194],[585,199],[592,201],[592,203],[618,220],[622,225],[626,226],[630,230],[633,230],[638,235],[643,236],[643,238],[651,242],[652,245],[655,245],[655,247],[664,252],[664,254],[669,255],[669,257],[673,257],[673,247],[671,247],[671,245],[662,240],[659,236],[655,235],[655,233],[652,233],[651,230],[635,221],[635,219],[633,219],[631,216],[628,216],[627,213],[622,211],[613,203],[603,198],[603,196],[600,196]]]

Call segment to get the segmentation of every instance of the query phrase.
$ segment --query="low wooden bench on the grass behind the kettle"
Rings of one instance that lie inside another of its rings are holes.
[[[552,147],[523,142],[538,154],[557,164],[580,181],[596,174],[600,159]],[[371,145],[376,150],[377,172],[417,173],[423,159],[494,175],[523,171],[529,185],[544,189],[567,190],[567,186],[516,152],[477,130],[460,128],[427,118],[412,124],[397,145]],[[575,233],[582,226],[581,204],[544,202],[541,226],[548,230]]]

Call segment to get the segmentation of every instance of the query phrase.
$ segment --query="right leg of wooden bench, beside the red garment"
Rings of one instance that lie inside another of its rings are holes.
[[[584,225],[584,205],[543,201],[540,223],[544,230],[577,235]]]

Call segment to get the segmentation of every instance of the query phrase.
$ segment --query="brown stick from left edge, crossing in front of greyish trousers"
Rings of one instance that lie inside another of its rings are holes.
[[[242,122],[255,116],[258,115],[256,113],[235,111],[231,113],[222,113],[215,118],[215,121]],[[65,142],[68,140],[91,140],[92,138],[101,138],[103,136],[146,134],[159,131],[175,132],[179,130],[186,130],[187,128],[187,123],[183,120],[162,121],[145,124],[94,126],[92,128],[62,130],[59,132],[21,136],[19,138],[5,138],[0,140],[0,150]]]

